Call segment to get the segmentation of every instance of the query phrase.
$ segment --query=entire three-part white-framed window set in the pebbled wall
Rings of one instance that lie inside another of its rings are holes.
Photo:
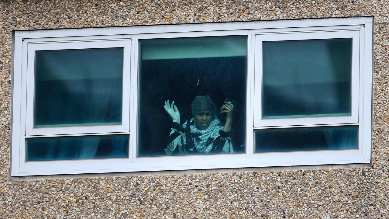
[[[370,162],[372,28],[17,31],[11,175]]]

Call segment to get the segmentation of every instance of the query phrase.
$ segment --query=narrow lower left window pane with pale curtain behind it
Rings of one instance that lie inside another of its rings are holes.
[[[128,157],[128,135],[26,139],[26,161]]]

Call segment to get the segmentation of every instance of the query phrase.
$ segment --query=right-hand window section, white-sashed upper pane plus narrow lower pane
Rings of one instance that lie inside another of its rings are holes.
[[[254,152],[358,149],[355,42],[355,30],[256,34],[262,51],[256,83],[262,87],[254,97],[254,125],[277,129],[256,130]],[[326,126],[334,124],[354,125]],[[282,129],[285,125],[315,127]]]

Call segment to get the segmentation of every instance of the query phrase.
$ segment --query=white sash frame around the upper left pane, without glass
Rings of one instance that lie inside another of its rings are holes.
[[[96,48],[123,48],[123,93],[122,93],[122,124],[121,125],[89,125],[65,127],[33,127],[34,118],[34,79],[35,79],[35,51],[68,50],[68,49],[96,49]],[[28,44],[27,63],[27,101],[26,101],[26,136],[58,135],[58,134],[85,134],[129,132],[129,87],[131,40],[96,40],[96,41],[67,41],[67,42],[32,42]]]

